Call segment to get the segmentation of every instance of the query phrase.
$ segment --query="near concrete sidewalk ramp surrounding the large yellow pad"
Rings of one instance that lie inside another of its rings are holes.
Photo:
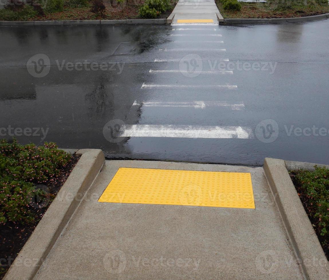
[[[250,172],[256,209],[100,203],[119,167]],[[106,161],[36,279],[302,279],[262,167]]]

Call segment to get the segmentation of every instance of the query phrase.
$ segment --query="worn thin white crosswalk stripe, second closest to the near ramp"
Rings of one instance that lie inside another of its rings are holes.
[[[143,107],[192,107],[195,109],[204,109],[206,107],[231,107],[232,110],[242,110],[244,108],[243,102],[240,104],[229,104],[227,102],[219,101],[188,101],[188,102],[174,102],[174,101],[153,101],[153,102],[137,102],[135,100],[133,106]]]

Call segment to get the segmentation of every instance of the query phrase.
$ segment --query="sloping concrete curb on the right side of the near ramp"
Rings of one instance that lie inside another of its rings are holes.
[[[284,160],[266,158],[264,171],[306,279],[328,279],[329,265]]]

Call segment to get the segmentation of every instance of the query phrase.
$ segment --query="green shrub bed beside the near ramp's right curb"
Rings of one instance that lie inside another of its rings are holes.
[[[329,169],[290,171],[291,180],[329,260]]]

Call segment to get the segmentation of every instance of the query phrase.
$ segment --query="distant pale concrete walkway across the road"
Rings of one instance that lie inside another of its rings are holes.
[[[213,24],[224,22],[214,0],[179,0],[172,13],[167,18],[167,23],[179,24],[177,20],[211,19]]]

